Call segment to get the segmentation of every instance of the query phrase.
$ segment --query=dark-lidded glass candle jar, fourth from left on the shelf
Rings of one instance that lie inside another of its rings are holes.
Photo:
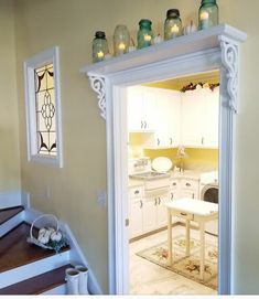
[[[182,35],[182,21],[177,9],[170,9],[164,21],[164,40],[175,39]]]

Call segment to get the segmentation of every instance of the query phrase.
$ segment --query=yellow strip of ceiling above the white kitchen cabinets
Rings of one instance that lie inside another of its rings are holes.
[[[172,79],[162,81],[162,82],[154,82],[154,83],[149,83],[149,84],[143,84],[143,85],[149,86],[149,87],[180,90],[183,86],[188,85],[191,82],[193,84],[197,84],[199,82],[209,83],[209,84],[219,83],[219,71],[217,70],[217,71],[213,71],[208,73],[193,74],[193,75],[187,75],[184,77],[177,77],[177,78],[172,78]]]

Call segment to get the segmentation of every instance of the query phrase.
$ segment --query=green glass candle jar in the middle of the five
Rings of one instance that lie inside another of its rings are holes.
[[[151,25],[152,22],[150,20],[140,20],[138,31],[138,49],[147,47],[153,44],[154,35]]]

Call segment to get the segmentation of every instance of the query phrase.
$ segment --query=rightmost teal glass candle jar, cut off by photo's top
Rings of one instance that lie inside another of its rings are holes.
[[[216,0],[202,0],[198,10],[198,29],[204,30],[218,24],[218,6]]]

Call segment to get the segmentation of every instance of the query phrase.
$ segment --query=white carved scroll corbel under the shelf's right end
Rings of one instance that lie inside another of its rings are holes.
[[[222,63],[227,73],[227,94],[229,107],[237,113],[238,97],[238,44],[226,38],[219,38],[222,49]]]

